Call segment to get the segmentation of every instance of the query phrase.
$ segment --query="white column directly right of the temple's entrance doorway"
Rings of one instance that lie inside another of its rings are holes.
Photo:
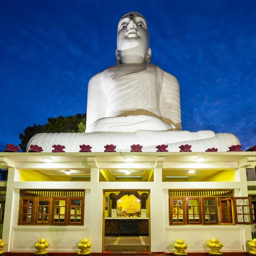
[[[163,252],[162,168],[154,169],[154,186],[150,190],[151,252]],[[168,201],[166,202],[168,204]]]

